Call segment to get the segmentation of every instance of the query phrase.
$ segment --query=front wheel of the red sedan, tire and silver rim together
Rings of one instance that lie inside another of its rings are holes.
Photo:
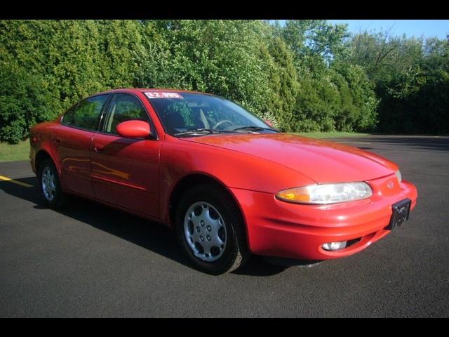
[[[199,185],[188,190],[177,205],[175,221],[182,251],[201,272],[232,272],[250,258],[240,210],[220,187]]]

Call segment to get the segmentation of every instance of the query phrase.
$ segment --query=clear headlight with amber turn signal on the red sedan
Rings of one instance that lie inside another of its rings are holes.
[[[367,183],[340,183],[290,188],[276,193],[276,199],[297,204],[335,204],[371,197]]]

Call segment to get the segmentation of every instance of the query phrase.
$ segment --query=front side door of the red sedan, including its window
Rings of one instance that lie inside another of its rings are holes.
[[[115,93],[101,133],[92,140],[93,190],[102,201],[157,218],[161,141],[156,134],[145,139],[119,136],[116,126],[133,119],[148,121],[155,130],[137,96]]]

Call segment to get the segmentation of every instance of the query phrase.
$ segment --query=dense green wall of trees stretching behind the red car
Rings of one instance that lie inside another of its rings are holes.
[[[326,20],[0,20],[0,140],[87,95],[182,88],[284,131],[448,133],[448,41]]]

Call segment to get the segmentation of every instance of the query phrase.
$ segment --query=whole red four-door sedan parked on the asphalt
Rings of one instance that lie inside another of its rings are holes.
[[[280,133],[205,93],[98,93],[31,135],[48,206],[77,194],[174,227],[192,263],[215,275],[252,253],[349,256],[402,225],[417,199],[391,161]]]

